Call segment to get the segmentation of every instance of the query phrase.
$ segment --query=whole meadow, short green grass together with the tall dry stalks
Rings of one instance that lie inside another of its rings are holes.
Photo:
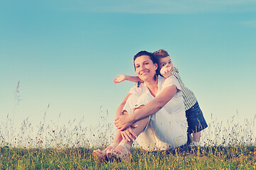
[[[242,124],[238,114],[227,122],[211,118],[201,147],[146,152],[135,142],[131,162],[105,164],[96,162],[92,151],[113,140],[108,112],[100,109],[95,126],[84,126],[83,118],[60,126],[59,120],[45,122],[48,108],[36,126],[27,118],[14,128],[9,115],[0,123],[0,169],[256,169],[256,115]]]

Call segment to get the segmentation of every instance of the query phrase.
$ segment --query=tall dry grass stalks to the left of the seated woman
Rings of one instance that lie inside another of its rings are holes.
[[[102,147],[113,140],[113,124],[107,123],[106,114],[99,115],[97,125],[86,125],[82,119],[69,120],[65,125],[57,122],[45,121],[47,109],[39,125],[33,125],[28,118],[21,122],[21,127],[13,127],[9,115],[0,124],[0,147],[18,148],[74,148],[74,147]]]

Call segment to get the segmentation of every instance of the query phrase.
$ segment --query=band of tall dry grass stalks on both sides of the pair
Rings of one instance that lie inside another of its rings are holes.
[[[50,107],[48,104],[47,109]],[[61,115],[57,122],[45,122],[47,110],[39,125],[33,125],[28,118],[23,120],[21,127],[13,127],[9,115],[0,124],[0,147],[18,148],[74,148],[74,147],[104,147],[111,143],[116,128],[113,123],[108,123],[108,111],[103,113],[100,108],[97,125],[86,125],[84,117],[80,120],[69,120],[60,126]],[[208,121],[208,128],[201,132],[201,146],[255,146],[256,145],[256,115],[245,119],[241,124],[238,114],[230,120]],[[138,145],[135,143],[135,147]]]

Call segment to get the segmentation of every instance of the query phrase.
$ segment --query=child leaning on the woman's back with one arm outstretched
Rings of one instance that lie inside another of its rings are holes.
[[[187,87],[184,86],[181,77],[179,76],[179,70],[172,65],[172,61],[169,57],[169,54],[165,50],[157,50],[153,53],[154,57],[157,60],[158,64],[158,74],[166,79],[174,74],[177,77],[179,84],[182,86],[182,93],[184,98],[184,104],[186,109],[186,116],[188,121],[188,132],[189,134],[193,133],[192,144],[191,145],[199,145],[201,130],[204,130],[208,127],[206,120],[204,119],[204,115],[201,112],[201,108],[194,96],[193,92]],[[121,83],[124,80],[138,82],[138,86],[140,84],[140,79],[138,77],[130,77],[126,75],[118,75],[118,78],[114,79],[113,82]]]

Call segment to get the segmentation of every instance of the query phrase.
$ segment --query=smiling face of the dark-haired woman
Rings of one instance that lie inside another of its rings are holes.
[[[134,60],[137,76],[143,81],[154,79],[157,63],[153,63],[148,55],[142,55]]]

